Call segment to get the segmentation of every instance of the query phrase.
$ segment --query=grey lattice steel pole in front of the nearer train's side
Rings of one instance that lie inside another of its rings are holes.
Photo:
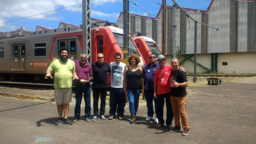
[[[83,11],[83,53],[91,64],[91,10],[90,0],[82,0]]]

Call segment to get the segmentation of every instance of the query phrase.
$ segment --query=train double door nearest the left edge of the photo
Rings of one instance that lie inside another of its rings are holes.
[[[12,70],[24,70],[26,45],[12,45]]]

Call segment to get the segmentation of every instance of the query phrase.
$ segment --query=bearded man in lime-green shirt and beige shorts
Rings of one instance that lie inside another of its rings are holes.
[[[75,72],[74,61],[68,58],[67,48],[61,48],[59,54],[60,57],[50,64],[45,76],[53,78],[51,74],[54,74],[54,96],[59,113],[55,125],[62,123],[72,125],[67,114],[69,113],[69,102],[72,102],[72,80],[78,80],[78,76]],[[64,118],[62,113],[64,113]]]

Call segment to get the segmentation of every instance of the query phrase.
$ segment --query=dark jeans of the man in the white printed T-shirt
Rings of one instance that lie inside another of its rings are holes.
[[[124,107],[125,107],[125,95],[123,88],[111,88],[110,87],[110,110],[109,115],[124,116]]]

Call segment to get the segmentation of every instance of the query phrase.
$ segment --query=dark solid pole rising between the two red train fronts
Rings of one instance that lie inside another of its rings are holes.
[[[124,58],[129,56],[129,0],[123,0],[123,27],[124,27],[124,36],[123,36],[123,50]]]

